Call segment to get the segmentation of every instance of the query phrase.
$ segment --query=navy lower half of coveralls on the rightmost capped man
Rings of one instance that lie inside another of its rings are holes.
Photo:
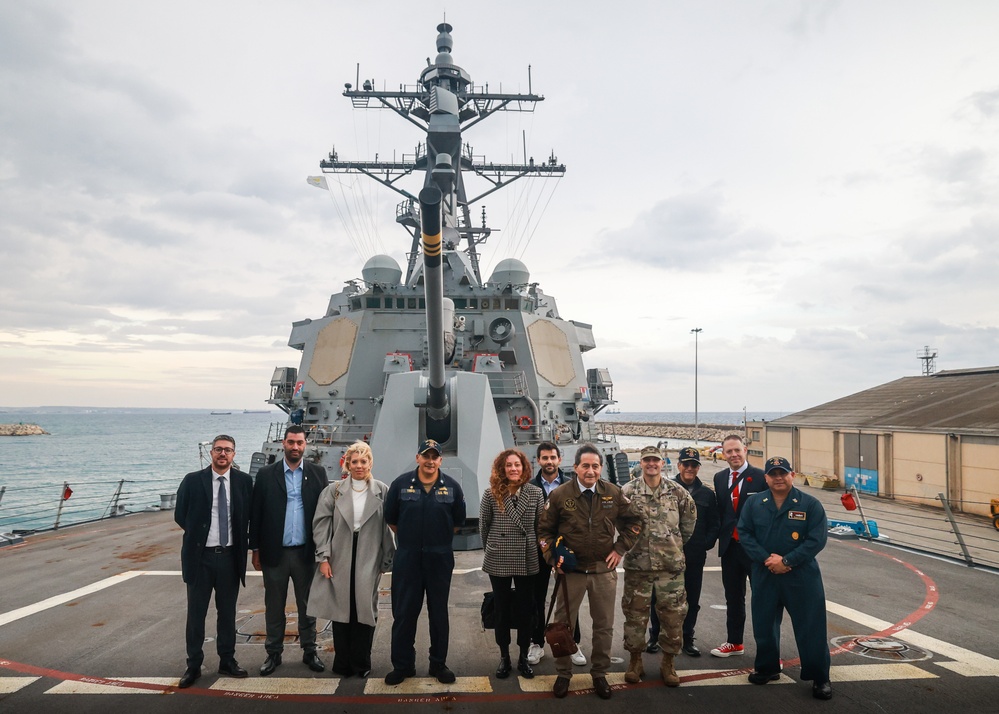
[[[780,671],[781,616],[787,610],[801,658],[801,678],[817,684],[829,681],[826,596],[816,563],[774,575],[762,565],[753,574],[753,636],[756,670]]]

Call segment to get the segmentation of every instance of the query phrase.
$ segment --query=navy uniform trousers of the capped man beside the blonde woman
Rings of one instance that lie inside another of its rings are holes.
[[[416,668],[416,623],[427,599],[430,620],[430,665],[447,664],[447,602],[451,595],[454,553],[451,550],[400,548],[392,564],[392,667]]]

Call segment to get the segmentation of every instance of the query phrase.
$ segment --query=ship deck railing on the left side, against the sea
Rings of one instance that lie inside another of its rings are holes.
[[[170,510],[180,479],[64,481],[61,487],[0,486],[0,533],[23,535],[130,513]]]

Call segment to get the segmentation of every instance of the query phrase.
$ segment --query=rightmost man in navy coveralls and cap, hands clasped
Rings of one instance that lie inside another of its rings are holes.
[[[780,677],[780,621],[787,610],[801,658],[801,678],[812,681],[812,696],[830,699],[826,595],[815,556],[826,545],[822,504],[794,487],[787,459],[767,461],[769,491],[753,494],[739,517],[739,542],[753,563],[753,684]]]

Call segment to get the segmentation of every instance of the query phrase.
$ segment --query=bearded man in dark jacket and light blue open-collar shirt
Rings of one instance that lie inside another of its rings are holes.
[[[295,586],[298,639],[304,652],[302,661],[313,672],[326,668],[316,654],[316,618],[309,616],[306,605],[315,567],[312,519],[329,479],[322,466],[302,460],[306,441],[305,429],[301,426],[289,426],[281,445],[284,459],[257,472],[250,507],[253,568],[264,573],[267,659],[260,667],[260,674],[265,677],[281,664],[289,580]]]

